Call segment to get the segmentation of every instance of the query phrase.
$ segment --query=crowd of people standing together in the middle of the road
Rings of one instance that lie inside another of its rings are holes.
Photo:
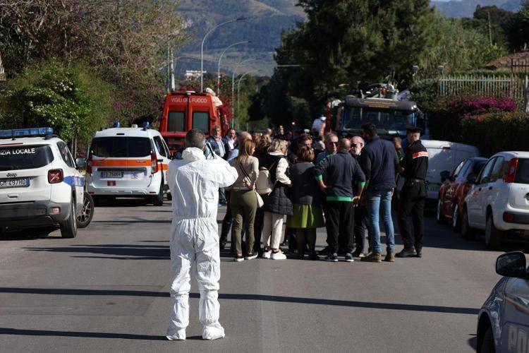
[[[220,249],[231,234],[235,261],[285,259],[281,244],[288,244],[298,258],[318,260],[316,229],[325,227],[327,247],[319,252],[325,261],[336,262],[339,254],[348,262],[421,257],[427,170],[421,130],[408,126],[403,150],[400,138],[379,138],[374,124],[362,128],[362,136],[352,138],[321,136],[319,131],[285,132],[283,126],[254,133],[231,128],[223,138],[214,126],[207,142],[238,172],[233,185],[219,189],[219,205],[227,206]],[[272,184],[265,192],[257,187],[263,176]],[[398,202],[392,202],[397,195]],[[404,244],[399,253],[392,205],[398,205]],[[379,215],[386,234],[384,256]]]

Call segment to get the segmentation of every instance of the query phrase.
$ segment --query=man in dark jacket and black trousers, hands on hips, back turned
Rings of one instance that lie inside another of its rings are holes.
[[[328,156],[315,168],[320,189],[327,194],[324,211],[329,255],[325,261],[338,261],[338,248],[341,246],[346,251],[345,260],[353,262],[353,207],[358,205],[360,200],[365,175],[360,165],[349,154],[350,149],[351,141],[342,138],[336,155]]]

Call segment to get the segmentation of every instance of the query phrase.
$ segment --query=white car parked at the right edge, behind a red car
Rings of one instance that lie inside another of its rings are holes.
[[[473,238],[485,229],[485,245],[529,240],[529,152],[499,152],[490,157],[468,191],[461,233]]]

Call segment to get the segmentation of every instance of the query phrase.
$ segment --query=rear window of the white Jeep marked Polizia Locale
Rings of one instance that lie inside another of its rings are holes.
[[[40,168],[53,160],[49,145],[0,148],[0,170]]]

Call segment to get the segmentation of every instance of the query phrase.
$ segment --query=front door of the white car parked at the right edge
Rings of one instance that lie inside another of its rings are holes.
[[[492,157],[483,167],[476,184],[470,190],[470,196],[467,200],[468,223],[472,227],[485,229],[484,213],[487,210],[485,203],[485,190],[490,181],[490,174],[496,162],[496,157]]]

